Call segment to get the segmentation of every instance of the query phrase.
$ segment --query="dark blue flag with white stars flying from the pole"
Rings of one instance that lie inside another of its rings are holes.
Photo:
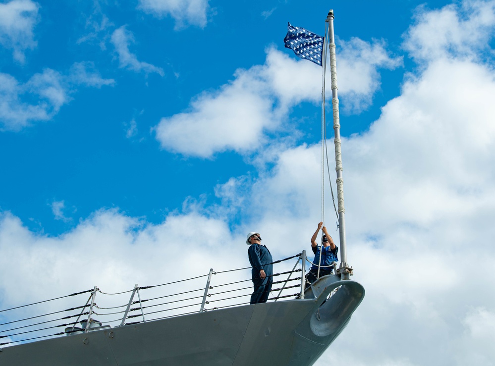
[[[322,65],[323,40],[322,36],[301,27],[293,27],[288,23],[287,35],[283,39],[285,47],[294,51],[301,58]]]

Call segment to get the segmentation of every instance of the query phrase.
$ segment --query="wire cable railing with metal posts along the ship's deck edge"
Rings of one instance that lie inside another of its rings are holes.
[[[305,263],[305,257],[306,253],[303,252],[273,262],[274,270],[277,269],[277,272],[271,275],[274,279],[273,285],[281,286],[272,288],[272,294],[276,295],[269,297],[268,301],[304,297],[305,285],[302,279],[305,275],[305,266],[303,264],[302,268],[296,267],[299,262]],[[284,264],[279,264],[294,258],[298,258],[298,261],[292,270],[288,270]],[[211,269],[210,273],[204,275],[152,286],[138,286],[136,284],[130,290],[114,293],[104,292],[95,286],[91,290],[0,310],[0,321],[2,321],[0,323],[0,347],[48,337],[86,333],[105,327],[118,327],[195,314],[198,311],[201,313],[247,305],[253,287],[242,284],[252,282],[251,268],[244,267],[217,272]],[[302,273],[296,276],[301,271]],[[287,278],[283,277],[285,275],[288,275]],[[206,277],[208,279],[205,286],[203,281]],[[164,294],[163,288],[165,286],[166,292]],[[293,293],[296,289],[299,292]],[[65,305],[69,303],[69,300],[75,301],[77,295],[87,293],[90,293],[90,296],[85,305],[72,306],[61,311],[51,311],[56,309],[56,302]],[[143,297],[143,295],[145,296]],[[62,317],[56,316],[72,311],[80,312]],[[148,319],[145,319],[145,316]],[[75,321],[61,323],[63,320],[76,317]],[[39,321],[30,322],[33,319],[39,319]],[[16,325],[9,326],[9,324]],[[54,333],[53,329],[59,327],[65,327],[64,331]],[[28,338],[25,338],[26,335]]]

